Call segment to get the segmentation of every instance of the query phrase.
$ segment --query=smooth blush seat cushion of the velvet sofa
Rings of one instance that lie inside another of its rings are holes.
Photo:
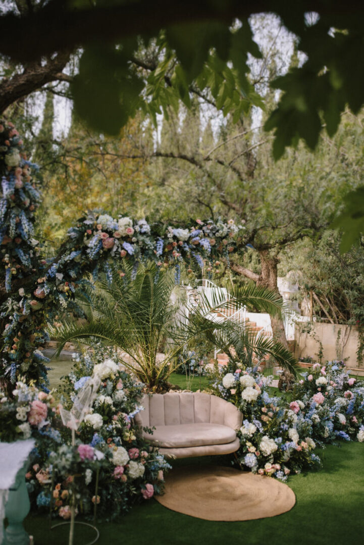
[[[199,422],[195,424],[156,426],[153,434],[143,434],[143,437],[148,439],[154,446],[174,449],[231,443],[235,440],[236,433],[228,426]]]

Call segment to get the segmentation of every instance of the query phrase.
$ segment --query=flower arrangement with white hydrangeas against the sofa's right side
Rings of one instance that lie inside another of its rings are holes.
[[[245,370],[242,364],[230,362],[217,371],[213,392],[234,403],[244,415],[237,453],[242,467],[286,481],[291,471],[300,473],[303,468],[317,467],[320,459],[313,452],[314,441],[307,437],[305,428],[298,426],[293,408],[270,395],[272,377],[264,377],[257,370],[258,366]]]

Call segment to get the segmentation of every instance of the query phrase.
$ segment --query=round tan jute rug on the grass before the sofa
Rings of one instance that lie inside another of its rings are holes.
[[[173,469],[165,494],[155,499],[191,517],[226,521],[274,517],[296,502],[293,490],[276,479],[211,465]]]

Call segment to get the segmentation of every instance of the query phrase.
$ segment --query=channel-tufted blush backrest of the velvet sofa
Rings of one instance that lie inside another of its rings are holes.
[[[208,393],[145,394],[141,404],[145,410],[136,415],[137,426],[173,426],[210,422],[238,429],[242,422],[242,414],[232,403]]]

